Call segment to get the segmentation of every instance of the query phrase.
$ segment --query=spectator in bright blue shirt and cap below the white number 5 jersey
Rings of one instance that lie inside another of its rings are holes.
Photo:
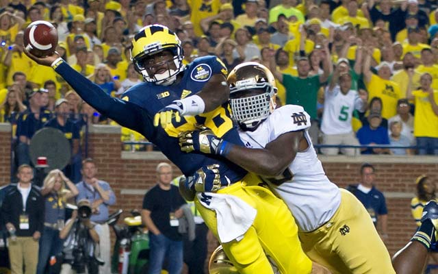
[[[370,112],[368,125],[364,125],[357,131],[357,139],[361,145],[389,145],[388,130],[381,126],[381,112]],[[385,148],[361,149],[362,154],[384,154],[389,153]]]

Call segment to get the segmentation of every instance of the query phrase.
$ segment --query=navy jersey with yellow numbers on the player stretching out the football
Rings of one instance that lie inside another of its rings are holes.
[[[175,120],[166,129],[154,127],[153,117],[159,110],[177,99],[183,99],[201,91],[212,75],[227,75],[227,69],[216,56],[196,58],[183,71],[182,79],[170,86],[159,86],[143,82],[131,87],[122,99],[110,97],[105,92],[81,76],[68,64],[62,63],[55,69],[87,103],[119,125],[139,132],[153,142],[186,176],[193,175],[202,166],[220,164],[220,174],[232,183],[246,175],[239,166],[203,153],[184,153],[178,144],[179,132],[196,129],[196,124],[209,127],[217,136],[237,145],[243,145],[235,123],[230,118],[228,103],[211,112],[197,116],[183,116],[181,122]]]

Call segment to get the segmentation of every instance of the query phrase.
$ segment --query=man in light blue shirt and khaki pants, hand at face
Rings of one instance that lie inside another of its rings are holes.
[[[97,168],[91,158],[82,161],[81,173],[83,180],[76,185],[79,190],[76,201],[87,199],[92,204],[91,221],[101,224],[99,246],[101,259],[105,262],[103,266],[99,266],[99,273],[111,273],[110,228],[104,222],[108,219],[108,206],[116,203],[116,195],[110,184],[96,178]]]

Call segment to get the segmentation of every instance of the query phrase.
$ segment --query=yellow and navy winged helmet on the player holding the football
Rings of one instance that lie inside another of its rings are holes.
[[[140,73],[146,82],[167,86],[175,82],[177,74],[184,70],[183,48],[178,36],[164,25],[147,25],[140,29],[131,41],[131,60],[134,68]],[[173,54],[173,62],[177,69],[170,69],[165,73],[149,75],[144,65],[144,59],[151,54],[170,50]]]

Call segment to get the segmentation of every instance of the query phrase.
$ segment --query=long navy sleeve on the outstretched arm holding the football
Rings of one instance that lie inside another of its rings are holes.
[[[57,66],[55,71],[73,87],[84,101],[119,125],[129,127],[137,132],[145,132],[146,129],[151,128],[152,119],[145,119],[146,112],[142,108],[134,103],[110,97],[99,86],[83,77],[66,62]],[[146,135],[150,137],[150,134],[152,132]]]

